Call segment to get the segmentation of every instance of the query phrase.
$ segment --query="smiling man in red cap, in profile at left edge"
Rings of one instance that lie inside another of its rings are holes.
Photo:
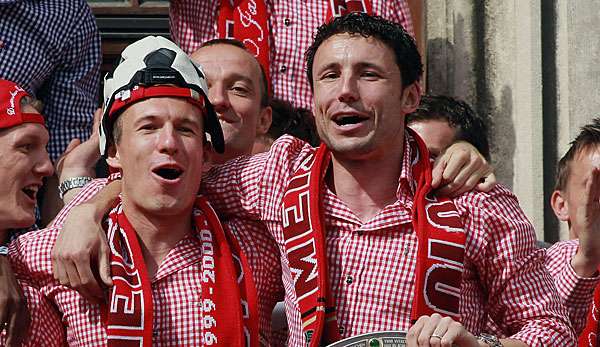
[[[36,194],[54,171],[40,112],[41,104],[23,88],[0,79],[0,245],[8,242],[12,229],[34,224]],[[0,333],[8,345],[18,345],[28,318],[6,255],[7,248],[0,246]]]

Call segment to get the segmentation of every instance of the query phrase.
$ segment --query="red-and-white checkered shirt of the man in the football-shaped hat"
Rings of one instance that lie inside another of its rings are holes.
[[[91,182],[69,206],[89,199],[106,182],[106,179]],[[57,220],[59,224],[64,222],[64,215]],[[277,301],[283,298],[279,254],[271,235],[262,224],[232,219],[228,225],[240,241],[253,270],[256,289],[261,293],[260,333],[261,341],[267,344],[270,339],[271,312]],[[50,253],[59,230],[53,227],[31,232],[19,237],[10,246],[11,262],[17,278],[28,290],[27,299],[35,299],[41,294],[43,299],[58,308],[56,312],[50,305],[33,307],[31,315],[35,329],[31,330],[30,345],[60,345],[65,335],[63,325],[71,346],[105,345],[106,330],[100,319],[99,306],[89,303],[75,290],[61,286],[52,276]],[[189,234],[177,243],[160,264],[151,281],[154,346],[202,345],[201,259],[199,236]],[[46,317],[54,315],[55,318],[40,322],[37,319],[39,314]],[[60,324],[60,318],[56,317],[62,317],[63,325]],[[59,329],[56,329],[56,319],[59,319]]]

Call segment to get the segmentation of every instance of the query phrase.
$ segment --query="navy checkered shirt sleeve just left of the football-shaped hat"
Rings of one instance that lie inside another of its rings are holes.
[[[94,110],[98,107],[100,81],[100,35],[94,16],[85,1],[72,21],[71,36],[55,70],[39,90],[50,132],[48,151],[56,160],[74,138],[86,140],[91,133]]]

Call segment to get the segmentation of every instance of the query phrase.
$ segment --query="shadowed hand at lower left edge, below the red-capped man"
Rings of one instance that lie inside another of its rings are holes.
[[[21,346],[29,328],[25,297],[4,256],[0,256],[0,327],[0,332],[6,329],[7,346]]]

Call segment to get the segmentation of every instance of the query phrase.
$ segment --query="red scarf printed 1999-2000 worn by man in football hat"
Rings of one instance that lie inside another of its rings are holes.
[[[202,243],[204,345],[258,346],[258,307],[246,257],[204,197],[195,202]],[[109,347],[152,346],[152,288],[137,234],[120,200],[107,219],[113,287],[103,321]],[[239,303],[240,306],[232,305]]]

